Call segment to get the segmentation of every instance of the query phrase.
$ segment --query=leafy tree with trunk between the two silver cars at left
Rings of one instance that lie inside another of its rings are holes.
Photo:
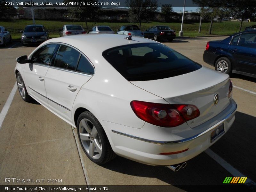
[[[65,2],[72,2],[73,0],[65,0]],[[95,19],[97,16],[97,12],[99,11],[100,6],[98,5],[84,5],[83,0],[77,0],[76,2],[80,3],[82,2],[81,6],[76,6],[76,7],[71,7],[68,9],[68,13],[71,17],[74,18],[74,20],[80,20],[84,21],[86,24],[86,30],[87,33],[89,32],[87,22],[90,19]],[[89,2],[97,2],[97,0],[91,0],[91,1],[86,1],[87,3]]]

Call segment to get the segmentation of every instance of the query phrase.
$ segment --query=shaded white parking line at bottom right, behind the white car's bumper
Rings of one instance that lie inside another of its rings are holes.
[[[218,164],[220,164],[224,169],[226,169],[228,172],[230,172],[234,177],[246,177],[244,174],[242,174],[241,172],[237,171],[232,165],[230,165],[229,163],[227,163],[224,159],[222,159],[220,156],[218,156],[216,153],[214,153],[211,149],[206,149],[204,151],[207,155],[209,155],[210,157],[212,157]],[[256,183],[247,178],[245,185],[256,185]]]

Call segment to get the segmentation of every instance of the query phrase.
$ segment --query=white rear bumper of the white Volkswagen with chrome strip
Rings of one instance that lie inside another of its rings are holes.
[[[107,129],[110,144],[117,155],[144,164],[173,165],[188,161],[219,140],[233,124],[236,107],[235,101],[231,100],[228,107],[219,115],[192,129],[183,124],[181,127],[183,132],[179,133],[174,128],[157,127],[147,123],[141,129],[133,129],[110,122],[101,123]],[[225,132],[211,142],[211,133],[220,124],[224,125]],[[161,138],[164,139],[161,140]],[[188,150],[184,151],[186,149]],[[177,151],[184,152],[159,155]]]

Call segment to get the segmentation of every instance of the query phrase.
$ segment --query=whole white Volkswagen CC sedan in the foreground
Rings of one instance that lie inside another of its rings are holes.
[[[53,38],[17,61],[22,99],[35,99],[76,127],[97,164],[117,154],[177,171],[235,120],[227,74],[146,38]]]

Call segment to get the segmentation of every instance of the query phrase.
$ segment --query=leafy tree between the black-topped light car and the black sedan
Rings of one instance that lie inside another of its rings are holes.
[[[152,19],[152,16],[157,11],[157,0],[126,0],[129,7],[129,21],[139,23],[141,27],[142,21]]]

